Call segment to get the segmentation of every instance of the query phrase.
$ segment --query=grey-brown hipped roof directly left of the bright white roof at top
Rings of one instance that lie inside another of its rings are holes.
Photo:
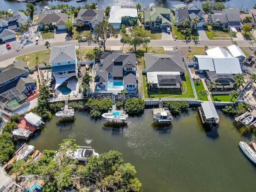
[[[104,10],[99,9],[80,9],[79,13],[76,17],[76,20],[82,21],[100,21],[103,22],[104,20]]]

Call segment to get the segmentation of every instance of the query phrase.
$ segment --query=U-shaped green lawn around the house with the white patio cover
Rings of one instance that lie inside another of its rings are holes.
[[[184,91],[146,90],[146,74],[142,75],[142,79],[143,79],[144,98],[162,98],[162,97],[194,98],[192,85],[187,72],[185,72],[185,76],[182,76],[182,86],[184,88]]]

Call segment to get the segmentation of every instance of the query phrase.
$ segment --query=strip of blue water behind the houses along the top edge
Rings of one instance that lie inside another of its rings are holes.
[[[213,0],[211,0],[214,2]],[[182,2],[181,0],[85,0],[83,2],[76,2],[76,0],[70,0],[68,2],[60,1],[60,0],[42,0],[35,5],[37,8],[36,12],[40,11],[44,6],[51,7],[51,5],[57,5],[57,4],[68,4],[69,6],[84,6],[85,4],[92,4],[93,2],[96,2],[98,4],[99,9],[105,9],[106,6],[116,6],[116,5],[136,5],[140,3],[142,5],[142,10],[143,8],[146,8],[149,6],[150,3],[158,3],[164,4],[166,8],[172,9],[173,5],[177,4],[188,4],[186,2]],[[197,4],[199,6],[202,5],[205,1],[202,0],[193,0],[192,1],[194,4]],[[230,8],[236,6],[238,9],[243,8],[250,10],[253,8],[255,1],[254,0],[229,0],[223,2],[223,4]],[[13,9],[15,11],[24,9],[26,10],[26,3],[25,2],[18,2],[17,0],[1,0],[1,8],[0,10],[8,10],[8,9]]]

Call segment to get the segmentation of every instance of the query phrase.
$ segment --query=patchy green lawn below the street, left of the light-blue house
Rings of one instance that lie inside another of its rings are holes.
[[[38,56],[38,63],[36,63],[36,56]],[[48,50],[32,52],[26,55],[18,56],[15,58],[16,60],[23,60],[28,63],[29,67],[34,67],[36,64],[49,64],[50,53]]]

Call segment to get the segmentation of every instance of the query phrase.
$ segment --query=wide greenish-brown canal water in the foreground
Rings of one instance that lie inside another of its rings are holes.
[[[256,166],[238,143],[255,136],[242,136],[232,118],[218,115],[220,123],[212,128],[202,126],[197,110],[160,126],[152,109],[146,109],[113,129],[106,120],[76,112],[74,122],[53,116],[29,144],[40,151],[57,150],[63,139],[75,138],[76,144],[92,146],[99,154],[117,150],[135,166],[142,192],[254,191]]]

